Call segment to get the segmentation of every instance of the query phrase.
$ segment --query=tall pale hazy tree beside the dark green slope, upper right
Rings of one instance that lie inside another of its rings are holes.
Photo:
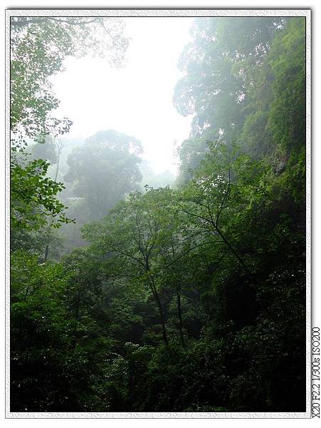
[[[248,114],[248,93],[284,22],[280,17],[194,21],[194,41],[181,54],[184,76],[174,92],[179,113],[194,114],[191,138],[181,149],[184,180],[206,153],[206,141],[228,143],[240,135]]]

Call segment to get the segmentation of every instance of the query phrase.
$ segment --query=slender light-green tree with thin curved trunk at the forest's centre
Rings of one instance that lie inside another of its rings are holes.
[[[162,338],[168,345],[164,307],[159,295],[157,257],[169,228],[166,209],[172,198],[169,188],[149,190],[145,195],[133,193],[117,205],[102,223],[83,228],[84,238],[93,241],[103,254],[115,255],[117,267],[134,277],[152,293],[159,310]]]

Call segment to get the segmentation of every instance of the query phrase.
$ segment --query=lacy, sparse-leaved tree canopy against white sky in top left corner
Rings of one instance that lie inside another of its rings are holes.
[[[57,119],[51,76],[63,71],[67,56],[107,55],[121,66],[128,39],[118,18],[11,18],[11,136],[15,146],[27,138],[58,137],[71,122]]]

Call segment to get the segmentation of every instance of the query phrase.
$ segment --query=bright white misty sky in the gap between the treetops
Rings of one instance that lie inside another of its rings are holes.
[[[143,157],[155,172],[176,172],[174,141],[189,136],[191,117],[172,103],[181,76],[177,61],[191,40],[191,18],[126,18],[132,41],[125,68],[111,68],[104,58],[68,58],[65,71],[52,78],[60,100],[57,116],[68,116],[68,136],[88,137],[115,129],[143,144]]]

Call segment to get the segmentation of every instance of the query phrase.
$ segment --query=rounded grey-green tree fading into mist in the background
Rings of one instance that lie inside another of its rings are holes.
[[[74,183],[75,196],[85,200],[90,217],[102,218],[133,190],[142,175],[138,155],[140,141],[117,131],[100,131],[68,156],[67,182]]]

